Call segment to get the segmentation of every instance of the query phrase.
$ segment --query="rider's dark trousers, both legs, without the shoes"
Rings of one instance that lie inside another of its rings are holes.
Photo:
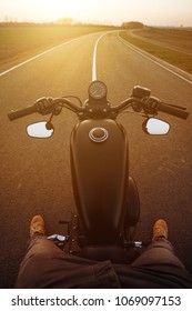
[[[37,235],[16,288],[192,288],[192,281],[165,239],[153,241],[132,264],[118,264],[64,253]]]

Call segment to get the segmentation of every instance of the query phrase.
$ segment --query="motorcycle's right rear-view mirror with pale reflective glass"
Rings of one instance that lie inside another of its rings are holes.
[[[143,131],[151,136],[164,136],[170,131],[170,124],[160,119],[150,118],[143,122]]]

